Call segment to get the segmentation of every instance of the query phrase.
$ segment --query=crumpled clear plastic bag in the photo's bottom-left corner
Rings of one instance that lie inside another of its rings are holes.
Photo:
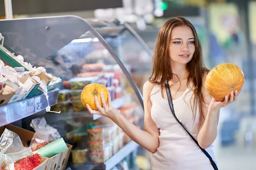
[[[2,169],[13,170],[13,163],[32,155],[31,148],[24,148],[20,137],[11,130],[5,129],[0,137],[0,162]]]

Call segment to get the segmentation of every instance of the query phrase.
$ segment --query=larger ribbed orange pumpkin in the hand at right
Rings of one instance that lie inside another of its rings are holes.
[[[212,68],[205,80],[206,91],[214,99],[223,101],[231,91],[238,92],[244,85],[244,74],[235,64],[222,63]]]

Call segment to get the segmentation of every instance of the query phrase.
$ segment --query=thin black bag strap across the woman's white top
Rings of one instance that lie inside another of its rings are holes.
[[[167,93],[167,98],[168,98],[168,102],[169,102],[169,106],[170,109],[172,111],[173,116],[175,117],[175,119],[177,120],[177,122],[184,128],[184,130],[186,130],[186,128],[182,125],[182,123],[179,121],[179,119],[177,119],[175,112],[174,112],[174,108],[173,108],[173,103],[172,103],[172,96],[171,96],[171,91],[170,91],[170,87],[168,84],[168,79],[165,81],[164,83],[165,87],[166,87],[166,93]],[[200,147],[200,145],[198,144],[197,140],[195,140],[195,138],[189,133],[188,130],[186,130],[186,132],[189,134],[189,136],[193,139],[193,141],[198,145],[198,147],[203,151],[203,153],[207,156],[207,158],[209,159],[210,164],[212,165],[214,170],[218,170],[217,165],[215,164],[215,162],[212,160],[212,157],[209,155],[209,153],[203,149],[202,147]]]

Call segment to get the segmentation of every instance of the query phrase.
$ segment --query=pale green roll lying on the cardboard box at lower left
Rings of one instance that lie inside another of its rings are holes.
[[[63,138],[59,138],[47,144],[46,146],[41,147],[41,149],[36,150],[34,153],[38,153],[41,156],[50,158],[63,152],[64,150],[67,150],[67,144],[64,142]]]

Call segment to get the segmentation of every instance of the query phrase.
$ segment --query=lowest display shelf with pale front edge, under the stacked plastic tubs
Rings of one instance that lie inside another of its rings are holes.
[[[126,144],[121,150],[119,150],[115,155],[111,157],[104,164],[68,164],[67,167],[70,167],[72,170],[111,170],[116,166],[120,161],[125,159],[131,152],[133,152],[139,144],[134,141]]]

